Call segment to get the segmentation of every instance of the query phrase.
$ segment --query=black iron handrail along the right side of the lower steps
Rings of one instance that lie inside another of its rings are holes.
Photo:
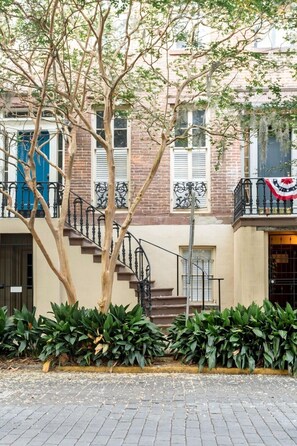
[[[147,243],[148,245],[175,257],[175,271],[176,271],[176,293],[177,296],[186,295],[186,273],[188,268],[188,259],[180,254],[170,251],[162,246],[156,245],[148,240],[139,239],[141,245]],[[205,310],[206,307],[217,304],[221,309],[221,282],[223,278],[213,277],[197,263],[193,262],[191,271],[190,284],[190,301],[201,303],[201,307]],[[214,284],[217,289],[214,289]]]

